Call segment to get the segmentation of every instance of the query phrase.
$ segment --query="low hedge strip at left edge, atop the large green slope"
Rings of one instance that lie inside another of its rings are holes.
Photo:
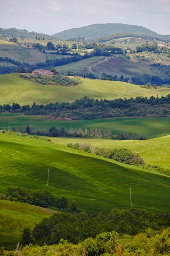
[[[29,135],[29,134],[31,134],[31,128],[29,127],[29,125],[27,125],[26,132],[24,132],[24,133],[22,133],[20,131],[15,131],[15,128],[14,128],[13,131],[3,129],[2,133],[3,134],[15,135],[15,136],[29,137],[29,138],[36,139],[36,140],[44,140],[46,142],[51,142],[51,140],[49,138],[42,137],[42,136],[39,136],[37,134],[36,135]]]

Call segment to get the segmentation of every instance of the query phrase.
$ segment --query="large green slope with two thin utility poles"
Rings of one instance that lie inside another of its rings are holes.
[[[109,212],[130,206],[131,186],[133,207],[170,210],[170,177],[164,175],[63,145],[6,134],[0,134],[0,154],[0,193],[9,185],[48,189],[75,199],[86,210]]]

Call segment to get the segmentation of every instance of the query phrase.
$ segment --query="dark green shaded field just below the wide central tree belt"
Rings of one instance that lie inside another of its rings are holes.
[[[129,133],[134,135],[143,135],[146,139],[161,137],[170,134],[170,118],[107,118],[92,119],[80,121],[64,121],[49,119],[47,116],[25,116],[17,113],[0,113],[0,129],[8,128],[25,128],[31,125],[31,128],[47,128],[52,125],[58,127],[65,126],[69,128],[100,128],[111,130],[113,134]]]

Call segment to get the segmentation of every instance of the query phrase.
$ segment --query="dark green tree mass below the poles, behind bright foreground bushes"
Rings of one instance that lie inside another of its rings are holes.
[[[85,211],[76,215],[57,212],[50,218],[43,219],[34,227],[34,230],[31,231],[28,228],[24,230],[23,243],[49,245],[65,239],[77,244],[88,237],[95,238],[101,232],[114,230],[120,235],[134,236],[147,228],[161,230],[169,224],[169,214],[156,214],[137,209],[113,210],[111,213],[100,212],[97,215]]]

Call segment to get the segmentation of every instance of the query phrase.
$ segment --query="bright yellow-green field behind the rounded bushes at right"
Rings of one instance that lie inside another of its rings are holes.
[[[96,140],[55,137],[51,137],[51,140],[61,145],[87,143],[96,148],[128,148],[138,153],[145,163],[170,169],[170,135],[151,140]]]

